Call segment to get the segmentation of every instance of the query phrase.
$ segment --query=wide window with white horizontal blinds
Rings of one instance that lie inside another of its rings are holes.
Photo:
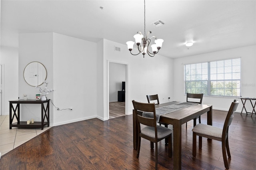
[[[185,93],[241,95],[241,58],[184,65]]]

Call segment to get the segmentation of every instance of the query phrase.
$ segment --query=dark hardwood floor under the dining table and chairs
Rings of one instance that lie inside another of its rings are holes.
[[[222,127],[226,111],[213,111],[213,125]],[[206,123],[206,114],[201,116]],[[255,170],[256,116],[234,113],[229,130],[230,170]],[[192,156],[193,121],[182,126],[182,169],[225,169],[219,141],[203,138],[202,149]],[[172,128],[169,125],[169,128]],[[154,169],[154,150],[142,139],[140,157],[132,141],[132,115],[108,121],[90,119],[52,127],[0,159],[1,170],[149,170]],[[197,140],[198,141],[198,140]],[[198,144],[197,144],[198,145]],[[164,140],[158,144],[158,169],[173,169]]]

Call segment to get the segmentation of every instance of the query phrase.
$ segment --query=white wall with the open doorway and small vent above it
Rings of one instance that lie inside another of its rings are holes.
[[[120,47],[121,51],[114,51],[114,46]],[[161,55],[145,55],[145,58],[142,54],[134,56],[130,54],[126,45],[104,39],[104,77],[108,77],[108,61],[128,65],[126,104],[129,114],[132,114],[132,100],[147,103],[146,95],[158,94],[160,103],[173,100],[173,59]],[[107,108],[108,80],[105,78],[103,97]],[[104,117],[107,117],[107,114],[107,109],[104,109]]]

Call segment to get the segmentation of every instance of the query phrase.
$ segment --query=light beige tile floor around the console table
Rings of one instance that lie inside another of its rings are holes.
[[[51,127],[41,128],[16,128],[9,126],[9,115],[0,116],[0,153],[1,155],[6,154],[10,150],[20,146],[28,140],[34,138],[38,134],[45,132]],[[13,122],[17,122],[13,121]]]

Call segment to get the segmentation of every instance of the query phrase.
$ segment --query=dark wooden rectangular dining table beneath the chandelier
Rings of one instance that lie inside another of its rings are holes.
[[[156,105],[157,108],[175,105],[180,102],[172,101]],[[173,125],[173,169],[181,170],[182,166],[182,124],[196,119],[200,115],[207,113],[207,124],[212,125],[212,105],[196,104],[183,109],[172,111],[161,115],[159,122]],[[136,122],[136,114],[133,110],[133,148],[137,150],[138,145],[138,125]],[[192,148],[192,146],[191,146]],[[192,152],[192,151],[191,151]],[[192,154],[192,153],[191,153]]]

